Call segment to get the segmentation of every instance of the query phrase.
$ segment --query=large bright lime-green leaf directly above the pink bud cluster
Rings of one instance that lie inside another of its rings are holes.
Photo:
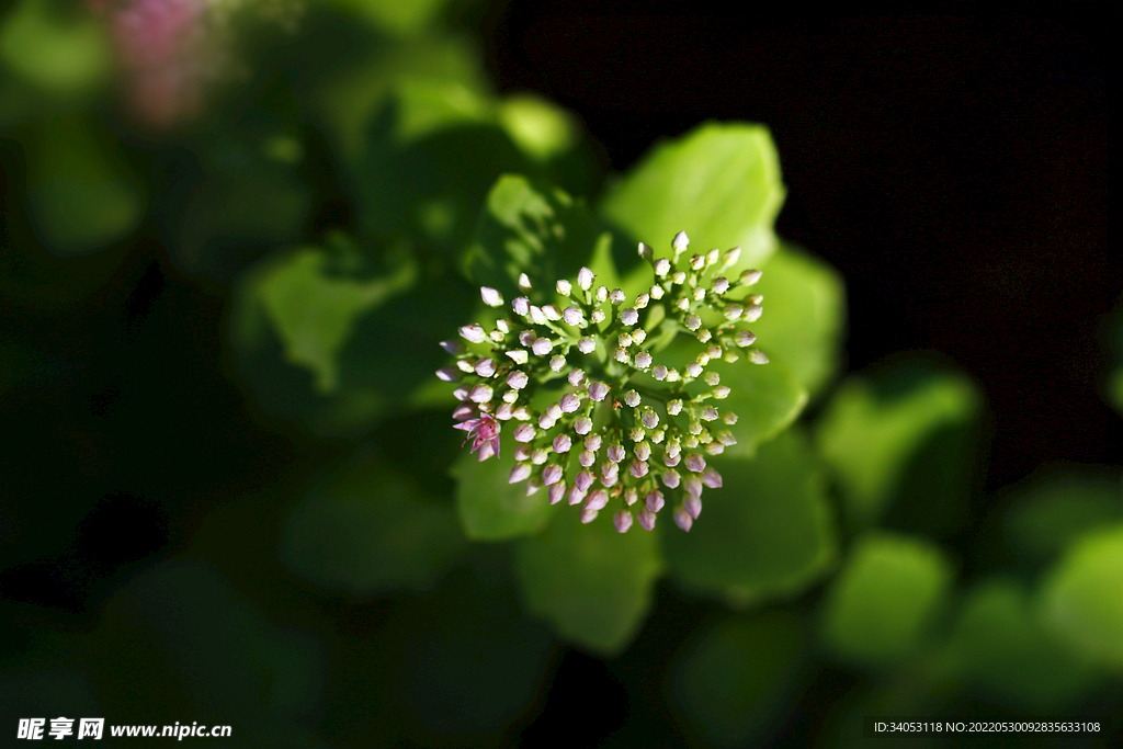
[[[696,252],[739,245],[736,273],[773,253],[773,221],[783,202],[768,129],[707,122],[645,156],[606,195],[601,216],[656,248],[682,230]]]

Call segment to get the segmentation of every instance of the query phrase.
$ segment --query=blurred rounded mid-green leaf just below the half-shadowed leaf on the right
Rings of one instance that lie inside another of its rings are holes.
[[[935,545],[867,533],[855,542],[827,594],[823,642],[861,666],[901,661],[924,645],[951,581],[951,565]]]

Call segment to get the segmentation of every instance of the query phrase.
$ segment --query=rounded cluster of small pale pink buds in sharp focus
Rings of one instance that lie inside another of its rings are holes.
[[[675,522],[691,529],[703,487],[722,483],[706,456],[737,441],[729,429],[737,414],[721,408],[730,389],[707,365],[768,358],[751,348],[756,336],[740,327],[760,317],[761,298],[731,296],[755,284],[760,272],[731,281],[721,273],[737,263],[739,247],[687,256],[688,241],[679,231],[669,258],[656,258],[640,243],[655,284],[630,302],[582,268],[575,281],[558,281],[539,300],[548,303],[532,304],[523,274],[524,295],[511,302],[512,317],[491,330],[464,326],[459,339],[441,344],[456,363],[437,376],[458,384],[455,428],[467,432],[465,442],[472,440],[481,460],[499,456],[500,433],[510,429],[510,481],[527,482],[528,493],[545,490],[551,504],[582,505],[582,522],[615,504],[621,533],[633,519],[652,530],[670,503]],[[504,305],[494,289],[484,286],[481,294],[490,307]],[[678,332],[697,340],[696,356],[681,369],[656,363],[656,342]]]

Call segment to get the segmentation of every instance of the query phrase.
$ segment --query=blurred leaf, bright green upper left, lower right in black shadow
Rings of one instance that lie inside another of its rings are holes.
[[[898,503],[902,512],[955,517],[973,483],[977,451],[969,437],[980,410],[970,380],[922,363],[843,382],[815,442],[834,471],[850,520],[859,527],[876,522],[898,497],[907,499]]]

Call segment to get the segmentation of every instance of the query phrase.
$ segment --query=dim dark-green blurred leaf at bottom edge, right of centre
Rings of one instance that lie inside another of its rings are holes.
[[[705,746],[768,743],[806,670],[804,623],[783,611],[731,616],[707,627],[683,650],[673,666],[670,691]]]

